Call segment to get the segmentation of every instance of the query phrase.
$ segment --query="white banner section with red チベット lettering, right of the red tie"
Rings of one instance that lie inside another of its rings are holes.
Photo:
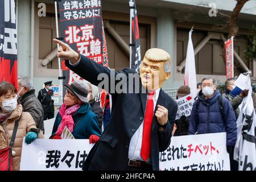
[[[226,133],[172,137],[159,159],[161,171],[229,171]]]

